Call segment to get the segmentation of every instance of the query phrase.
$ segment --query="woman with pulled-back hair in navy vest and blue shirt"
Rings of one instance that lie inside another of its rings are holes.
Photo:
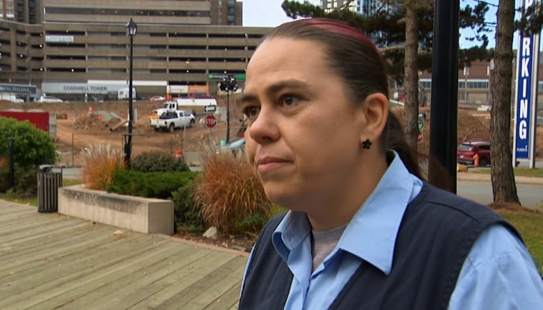
[[[543,309],[517,231],[420,179],[387,94],[375,45],[341,22],[288,22],[256,49],[247,157],[290,211],[263,228],[239,309]]]

